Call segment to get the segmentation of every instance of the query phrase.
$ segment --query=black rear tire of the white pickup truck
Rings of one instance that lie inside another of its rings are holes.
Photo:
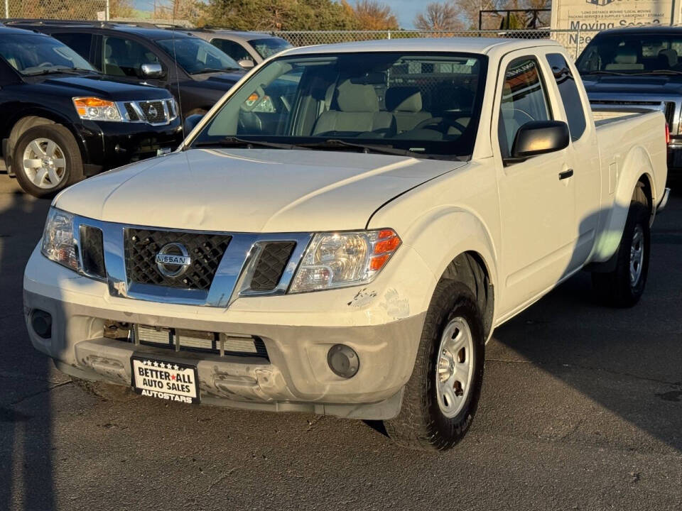
[[[630,278],[630,260],[633,238],[636,232],[643,234],[643,260],[639,278]],[[616,255],[616,268],[609,273],[592,273],[592,286],[598,300],[612,307],[632,307],[644,294],[646,275],[649,273],[649,250],[651,231],[649,229],[649,208],[642,202],[631,202],[623,236]]]

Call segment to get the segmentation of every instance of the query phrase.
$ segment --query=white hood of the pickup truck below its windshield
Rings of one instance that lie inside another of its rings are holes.
[[[320,150],[192,149],[104,172],[66,189],[55,206],[171,229],[364,229],[382,204],[463,165]]]

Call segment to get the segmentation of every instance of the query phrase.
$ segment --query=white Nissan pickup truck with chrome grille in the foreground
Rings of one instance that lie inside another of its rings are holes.
[[[31,341],[79,381],[448,449],[495,326],[583,269],[610,304],[644,291],[666,123],[613,116],[549,40],[288,50],[175,153],[55,198]]]

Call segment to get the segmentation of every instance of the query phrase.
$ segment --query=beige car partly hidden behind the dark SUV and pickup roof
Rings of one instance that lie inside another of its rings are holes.
[[[246,69],[292,48],[288,41],[268,33],[239,32],[222,28],[193,28],[190,33],[220,48]]]

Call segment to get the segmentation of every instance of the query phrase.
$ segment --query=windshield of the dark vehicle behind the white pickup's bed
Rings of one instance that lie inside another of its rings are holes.
[[[682,35],[597,35],[578,57],[580,74],[646,75],[682,72]]]

